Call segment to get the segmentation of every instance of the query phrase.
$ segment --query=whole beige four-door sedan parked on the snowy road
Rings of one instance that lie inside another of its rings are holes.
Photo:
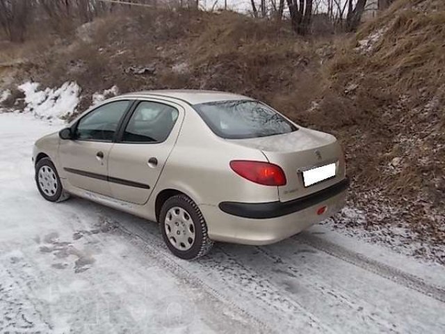
[[[33,161],[45,199],[72,194],[157,221],[188,260],[213,241],[290,237],[339,211],[348,188],[334,136],[214,91],[113,97],[40,138]]]

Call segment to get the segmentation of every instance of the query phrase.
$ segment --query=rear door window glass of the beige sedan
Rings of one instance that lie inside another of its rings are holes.
[[[161,143],[178,118],[177,109],[157,102],[140,102],[122,136],[123,143]]]

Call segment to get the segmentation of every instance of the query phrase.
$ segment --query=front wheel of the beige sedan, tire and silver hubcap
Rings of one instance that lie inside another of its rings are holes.
[[[35,184],[40,195],[49,202],[62,202],[70,197],[63,189],[56,166],[49,158],[40,159],[35,164]]]

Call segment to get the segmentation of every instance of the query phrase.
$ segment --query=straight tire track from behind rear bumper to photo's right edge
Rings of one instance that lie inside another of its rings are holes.
[[[410,273],[405,273],[405,271],[391,267],[377,260],[373,260],[371,257],[367,257],[366,255],[355,253],[352,250],[348,250],[342,246],[333,244],[330,241],[316,237],[313,234],[309,234],[309,232],[302,232],[291,239],[294,241],[302,241],[308,246],[321,250],[322,252],[333,257],[337,257],[339,260],[353,264],[355,267],[375,273],[376,275],[386,278],[387,280],[391,280],[398,285],[403,285],[408,289],[420,292],[421,294],[424,294],[432,299],[445,303],[444,289],[425,283],[421,278],[418,278]]]

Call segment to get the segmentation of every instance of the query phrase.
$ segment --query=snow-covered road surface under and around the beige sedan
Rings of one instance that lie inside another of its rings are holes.
[[[321,226],[186,262],[154,223],[33,183],[57,127],[0,114],[0,333],[445,333],[445,269]]]

